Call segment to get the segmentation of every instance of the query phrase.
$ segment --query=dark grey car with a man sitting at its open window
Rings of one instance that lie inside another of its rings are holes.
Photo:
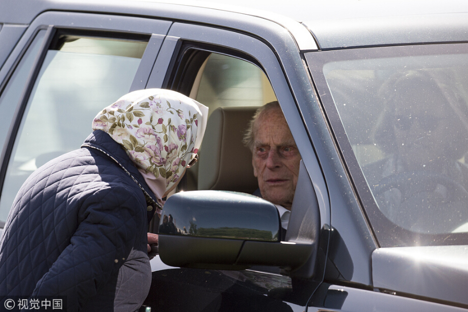
[[[468,4],[236,5],[2,0],[0,226],[102,107],[172,89],[211,131],[141,310],[466,310]],[[283,241],[241,142],[274,100],[302,157]]]

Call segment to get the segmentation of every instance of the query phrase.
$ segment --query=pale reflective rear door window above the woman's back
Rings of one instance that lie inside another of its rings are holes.
[[[6,220],[25,179],[48,160],[80,148],[97,112],[129,91],[146,45],[76,35],[57,38],[47,51],[16,136],[0,220]]]

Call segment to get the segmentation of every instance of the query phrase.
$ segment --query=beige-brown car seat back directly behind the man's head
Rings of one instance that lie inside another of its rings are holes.
[[[213,111],[200,148],[199,190],[252,193],[258,188],[252,153],[242,143],[257,108],[219,107]]]

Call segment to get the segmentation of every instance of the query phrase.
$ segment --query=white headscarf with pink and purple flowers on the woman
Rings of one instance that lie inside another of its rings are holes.
[[[195,157],[206,128],[208,108],[171,90],[128,93],[94,118],[125,149],[146,183],[161,199]]]

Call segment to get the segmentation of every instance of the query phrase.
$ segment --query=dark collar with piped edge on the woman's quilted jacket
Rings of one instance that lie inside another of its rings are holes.
[[[82,148],[92,148],[101,151],[102,153],[109,156],[117,164],[119,164],[124,171],[132,177],[142,191],[145,193],[145,197],[161,209],[161,204],[158,203],[157,197],[149,189],[143,176],[138,171],[132,160],[125,153],[123,148],[112,139],[112,137],[104,131],[94,130],[85,140],[85,143],[81,146]]]

